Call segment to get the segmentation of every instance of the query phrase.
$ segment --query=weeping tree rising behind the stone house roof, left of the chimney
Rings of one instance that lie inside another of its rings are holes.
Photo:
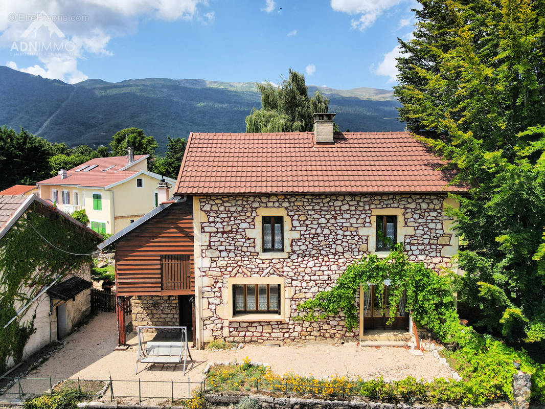
[[[253,109],[246,117],[246,132],[312,131],[312,114],[328,112],[329,99],[316,91],[308,97],[305,76],[289,69],[288,78],[276,86],[258,84],[261,109]]]

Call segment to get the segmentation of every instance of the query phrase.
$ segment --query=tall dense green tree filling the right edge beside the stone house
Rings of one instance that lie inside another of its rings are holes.
[[[545,3],[419,2],[395,94],[409,130],[469,188],[452,210],[465,245],[458,296],[480,326],[544,339]]]

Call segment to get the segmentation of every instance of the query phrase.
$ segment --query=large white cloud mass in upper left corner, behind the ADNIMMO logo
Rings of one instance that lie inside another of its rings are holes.
[[[11,50],[14,61],[9,62],[10,68],[75,83],[87,79],[87,75],[77,69],[80,59],[111,56],[112,52],[108,50],[110,41],[136,32],[140,19],[212,23],[215,19],[214,11],[204,13],[202,10],[207,6],[207,0],[82,0],[77,3],[0,0],[0,47]],[[50,36],[54,26],[50,23],[45,26],[37,25],[36,30],[22,38],[22,34],[32,23],[29,17],[41,14],[42,10],[55,22],[57,30],[53,30]],[[37,61],[29,67],[19,67],[16,60],[17,49],[21,49],[21,42],[25,41],[64,44],[66,50],[69,50],[20,52],[19,55],[33,56]]]

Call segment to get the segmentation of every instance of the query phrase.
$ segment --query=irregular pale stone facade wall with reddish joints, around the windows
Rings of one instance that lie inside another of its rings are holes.
[[[449,264],[449,251],[445,250],[454,239],[446,231],[451,219],[445,214],[445,199],[446,195],[195,198],[198,203],[194,203],[194,208],[200,209],[193,217],[200,224],[200,243],[196,248],[200,248],[202,259],[195,264],[203,275],[202,279],[197,278],[202,283],[202,341],[356,336],[356,332],[346,330],[342,316],[315,323],[294,321],[297,305],[319,291],[329,290],[349,263],[368,254],[369,246],[374,250],[374,244],[370,245],[374,243],[372,212],[377,210],[373,209],[393,208],[402,216],[398,216],[403,221],[403,226],[398,226],[398,239],[404,234],[404,248],[411,260],[423,261],[435,269]],[[286,232],[284,221],[284,237],[292,237],[286,258],[263,257],[259,253],[261,245],[256,245],[259,238],[251,237],[252,231],[258,231],[257,215],[263,208],[285,209],[291,230]],[[228,279],[270,276],[284,279],[283,320],[231,320]]]

